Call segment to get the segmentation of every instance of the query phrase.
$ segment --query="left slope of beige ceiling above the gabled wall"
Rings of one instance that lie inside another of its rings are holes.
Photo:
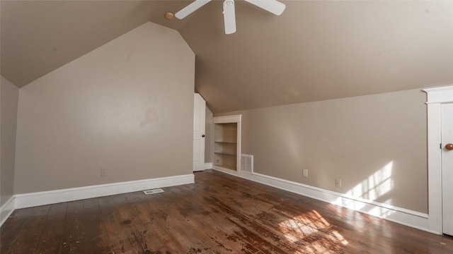
[[[1,1],[1,75],[27,85],[150,17],[162,17],[167,2]]]

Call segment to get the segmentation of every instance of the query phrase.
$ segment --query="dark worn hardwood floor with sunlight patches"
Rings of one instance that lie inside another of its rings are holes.
[[[453,238],[203,171],[164,193],[13,212],[0,253],[453,253]]]

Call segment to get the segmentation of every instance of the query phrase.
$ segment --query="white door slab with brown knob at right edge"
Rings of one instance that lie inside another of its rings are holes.
[[[442,228],[453,236],[453,103],[442,104]]]

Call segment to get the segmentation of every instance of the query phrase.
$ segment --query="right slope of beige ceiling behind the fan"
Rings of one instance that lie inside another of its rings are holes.
[[[180,30],[214,112],[453,82],[452,1],[285,1],[280,17],[240,2],[229,36],[216,4]]]

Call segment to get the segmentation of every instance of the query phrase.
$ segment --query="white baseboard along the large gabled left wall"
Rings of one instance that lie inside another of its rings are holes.
[[[15,195],[16,209],[195,183],[193,174]]]

